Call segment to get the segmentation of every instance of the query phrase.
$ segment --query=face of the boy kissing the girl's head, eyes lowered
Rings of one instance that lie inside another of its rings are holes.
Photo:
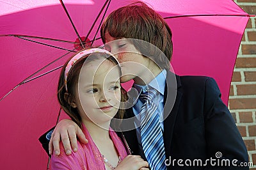
[[[109,50],[118,59],[122,68],[121,82],[127,82],[136,77],[143,79],[143,73],[150,70],[150,59],[142,56],[134,45],[125,38],[113,38],[108,32],[105,38],[106,50]]]

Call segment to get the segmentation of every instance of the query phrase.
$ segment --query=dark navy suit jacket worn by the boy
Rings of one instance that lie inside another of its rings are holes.
[[[168,159],[166,164],[170,164],[168,169],[249,169],[240,166],[241,162],[248,162],[246,146],[220,97],[218,85],[210,77],[179,76],[167,72],[163,137]],[[127,109],[125,118],[133,116],[132,108]],[[124,127],[125,125],[120,125],[121,130]],[[123,134],[132,154],[141,155],[145,159],[143,151],[138,147],[136,130]],[[219,160],[216,158],[217,152],[222,154],[221,157],[217,156],[220,157]],[[200,162],[197,163],[199,158],[202,166]],[[178,164],[179,159],[181,162]],[[232,166],[232,160],[237,167]],[[228,161],[230,166],[225,166]],[[214,162],[215,166],[211,166]],[[192,166],[186,166],[189,164]]]

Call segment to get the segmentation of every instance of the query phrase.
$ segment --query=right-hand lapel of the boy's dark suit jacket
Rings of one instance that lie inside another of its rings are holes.
[[[175,83],[177,82],[177,83]],[[179,104],[182,98],[180,91],[181,83],[179,75],[167,72],[166,86],[164,89],[164,150],[166,158],[170,157],[171,142],[173,136],[173,128]]]

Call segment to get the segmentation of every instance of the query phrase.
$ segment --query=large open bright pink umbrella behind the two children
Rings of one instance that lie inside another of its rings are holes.
[[[59,68],[80,40],[84,41],[80,37],[90,33],[89,40],[99,38],[97,28],[107,7],[106,15],[128,3],[112,1],[108,7],[108,1],[66,0],[63,4],[72,26],[60,1],[0,2],[2,169],[46,168],[47,155],[38,137],[56,123],[60,112],[56,100]],[[237,51],[250,16],[232,0],[147,3],[172,29],[175,73],[214,77],[223,102],[228,104]],[[101,41],[95,43],[100,45]],[[131,83],[124,86],[128,89]]]

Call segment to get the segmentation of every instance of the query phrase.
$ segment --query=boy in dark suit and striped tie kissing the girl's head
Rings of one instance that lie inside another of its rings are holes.
[[[120,62],[121,81],[133,79],[133,88],[138,91],[139,97],[130,95],[135,98],[134,105],[126,109],[120,126],[134,155],[141,155],[151,169],[248,169],[239,166],[248,162],[246,147],[221,101],[216,82],[210,77],[179,76],[169,71],[172,32],[158,13],[143,3],[119,8],[104,21],[101,36],[106,49]],[[157,106],[141,99],[145,94],[154,94],[150,97]],[[144,120],[145,110],[154,116]],[[126,123],[125,119],[132,121]],[[152,124],[144,124],[147,121]],[[61,121],[53,132],[49,151],[52,153],[54,146],[59,154],[61,136],[70,154],[70,143],[74,150],[77,148],[76,134],[86,143],[75,123]]]

